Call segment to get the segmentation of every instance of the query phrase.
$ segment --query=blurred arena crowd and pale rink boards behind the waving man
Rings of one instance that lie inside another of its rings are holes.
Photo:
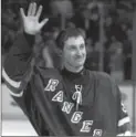
[[[57,54],[54,39],[59,31],[67,27],[81,28],[86,36],[86,67],[104,71],[115,78],[130,116],[132,133],[136,135],[136,0],[2,0],[2,63],[15,36],[22,31],[19,8],[27,9],[32,1],[43,4],[41,19],[50,19],[35,41],[38,45],[46,43],[50,60],[45,65],[59,65],[59,57],[54,57]],[[35,51],[40,50],[35,46]],[[1,84],[2,136],[36,136],[3,81]]]

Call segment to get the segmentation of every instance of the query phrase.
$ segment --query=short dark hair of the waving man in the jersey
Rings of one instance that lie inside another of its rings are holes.
[[[80,36],[82,35],[85,39],[85,35],[82,32],[82,29],[80,28],[67,28],[65,30],[62,30],[57,38],[56,38],[56,45],[59,49],[63,50],[64,48],[64,42],[72,36]]]

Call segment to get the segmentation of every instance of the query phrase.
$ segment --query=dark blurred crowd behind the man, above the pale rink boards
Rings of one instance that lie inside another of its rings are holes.
[[[35,36],[34,63],[46,67],[61,67],[55,44],[59,32],[65,28],[80,28],[85,36],[87,59],[85,66],[104,71],[118,78],[132,78],[132,30],[135,0],[2,0],[1,51],[2,63],[17,35],[22,32],[19,8],[30,2],[43,6],[48,24]]]

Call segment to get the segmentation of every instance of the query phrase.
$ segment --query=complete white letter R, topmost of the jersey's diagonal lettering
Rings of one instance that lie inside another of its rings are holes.
[[[59,84],[59,80],[51,78],[51,80],[49,80],[49,83],[48,83],[46,87],[44,88],[44,91],[54,92],[57,84]]]

